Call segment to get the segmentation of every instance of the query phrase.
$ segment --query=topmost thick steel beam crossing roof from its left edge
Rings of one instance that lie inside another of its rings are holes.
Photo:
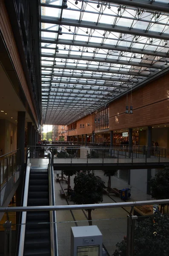
[[[149,37],[149,38],[159,38],[163,40],[169,40],[169,34],[160,35],[160,33],[155,33],[155,32],[143,32],[143,30],[141,29],[129,29],[129,28],[124,28],[122,26],[117,26],[117,25],[113,27],[112,24],[109,25],[104,23],[99,23],[99,25],[95,25],[95,23],[91,21],[84,22],[81,20],[80,23],[78,23],[76,20],[72,20],[72,19],[64,18],[64,20],[57,20],[56,17],[42,15],[41,22],[52,23],[52,24],[57,24],[62,26],[74,26],[74,27],[80,27],[80,28],[97,29],[102,31],[106,30],[106,31],[115,32],[115,33],[140,35],[140,36]]]

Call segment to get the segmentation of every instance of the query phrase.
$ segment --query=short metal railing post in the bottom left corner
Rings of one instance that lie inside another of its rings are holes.
[[[11,221],[6,221],[3,227],[5,228],[4,256],[11,256]]]

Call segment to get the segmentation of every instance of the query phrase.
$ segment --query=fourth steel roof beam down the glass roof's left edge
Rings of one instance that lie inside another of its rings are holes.
[[[65,70],[82,70],[82,71],[91,71],[91,72],[96,72],[97,74],[98,73],[110,73],[110,74],[120,74],[120,75],[131,75],[131,76],[136,76],[136,74],[137,74],[137,76],[144,76],[144,77],[147,77],[147,75],[145,75],[145,74],[139,74],[139,73],[136,73],[136,72],[125,72],[125,71],[117,71],[117,70],[115,70],[115,71],[113,71],[113,70],[103,70],[103,69],[92,69],[92,68],[88,68],[88,67],[86,67],[86,68],[80,68],[80,67],[74,67],[74,66],[68,66],[68,65],[66,65],[66,67],[65,66],[59,66],[59,65],[56,65],[56,66],[54,66],[54,65],[51,65],[51,66],[49,66],[49,65],[41,65],[41,67],[44,67],[44,68],[57,68],[57,69],[65,69]],[[47,70],[47,69],[45,69],[45,70]],[[42,72],[43,72],[44,70],[42,70]],[[48,71],[52,71],[52,70],[48,70]]]

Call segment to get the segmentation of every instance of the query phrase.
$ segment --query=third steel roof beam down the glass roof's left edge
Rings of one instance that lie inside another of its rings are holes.
[[[141,54],[141,52],[140,52]],[[143,54],[143,53],[142,53]],[[152,68],[157,68],[157,69],[161,69],[161,66],[158,65],[154,65],[154,64],[145,64],[144,62],[141,62],[141,64],[139,63],[135,63],[132,61],[115,61],[115,60],[109,60],[109,59],[102,59],[102,58],[86,58],[86,57],[77,57],[77,55],[71,55],[71,56],[66,56],[66,55],[53,55],[53,54],[41,54],[42,57],[46,57],[46,58],[61,58],[61,59],[72,59],[72,60],[80,60],[80,61],[95,61],[95,62],[102,62],[102,63],[112,63],[112,64],[121,64],[121,65],[128,65],[128,66],[136,66],[136,67],[152,67]],[[118,58],[118,56],[117,56]],[[43,61],[43,60],[42,60]],[[48,61],[48,60],[46,60]],[[57,65],[54,65],[54,68],[57,68]],[[63,69],[63,67],[62,67]]]

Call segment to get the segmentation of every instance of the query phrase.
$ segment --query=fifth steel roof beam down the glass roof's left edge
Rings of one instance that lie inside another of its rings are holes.
[[[64,69],[64,68],[63,68]],[[50,74],[46,74],[46,73],[42,73],[42,76],[49,76],[49,77],[51,77],[52,75]],[[129,79],[122,79],[121,77],[119,78],[119,79],[116,79],[116,78],[111,78],[111,79],[109,79],[109,78],[104,78],[104,75],[103,75],[103,77],[100,77],[100,76],[77,76],[75,73],[73,74],[73,76],[72,75],[62,75],[62,74],[60,74],[60,73],[58,73],[58,74],[56,74],[56,73],[54,73],[53,74],[53,76],[54,76],[54,78],[56,79],[56,77],[61,77],[61,78],[63,78],[63,77],[66,77],[66,78],[70,78],[70,79],[85,79],[85,80],[87,80],[87,79],[89,79],[89,80],[103,80],[103,81],[116,81],[116,82],[129,82],[129,83],[131,83],[131,81],[129,81]],[[136,79],[136,78],[134,78],[134,79]],[[134,82],[134,79],[132,79],[132,81]],[[131,80],[131,79],[130,79]]]

